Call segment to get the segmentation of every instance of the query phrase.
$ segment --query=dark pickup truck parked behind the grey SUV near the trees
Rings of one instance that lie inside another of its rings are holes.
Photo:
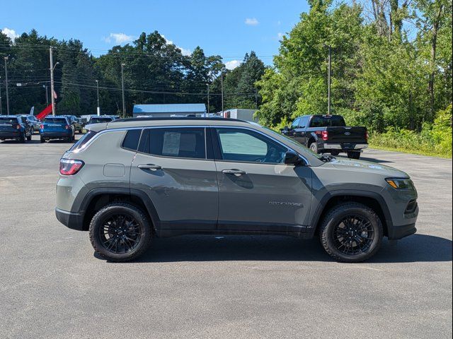
[[[344,152],[351,159],[359,159],[362,149],[368,147],[367,128],[346,126],[340,115],[304,115],[281,132],[315,153]]]

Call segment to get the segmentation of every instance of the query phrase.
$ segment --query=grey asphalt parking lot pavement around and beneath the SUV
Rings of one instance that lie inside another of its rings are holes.
[[[1,338],[452,338],[452,160],[365,152],[408,172],[420,205],[418,233],[366,263],[248,236],[155,239],[109,263],[55,218],[67,148],[0,142]]]

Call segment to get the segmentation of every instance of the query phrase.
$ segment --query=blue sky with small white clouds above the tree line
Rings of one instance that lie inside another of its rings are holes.
[[[141,32],[158,30],[190,53],[200,45],[220,54],[230,68],[254,50],[272,63],[279,39],[308,11],[306,1],[2,1],[0,29],[8,35],[29,32],[57,39],[76,38],[94,55],[125,44]]]

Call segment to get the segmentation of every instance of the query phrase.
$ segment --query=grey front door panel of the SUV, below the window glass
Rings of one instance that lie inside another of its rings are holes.
[[[216,165],[219,229],[279,231],[287,225],[308,225],[309,167],[224,161]],[[229,169],[246,174],[223,172]]]

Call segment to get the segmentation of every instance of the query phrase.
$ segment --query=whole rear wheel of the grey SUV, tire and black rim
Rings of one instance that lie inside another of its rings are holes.
[[[111,226],[117,225],[117,220],[121,220],[115,219],[118,217],[129,220],[130,228]],[[115,220],[115,223],[111,222],[112,220]],[[152,230],[149,218],[136,206],[130,203],[110,203],[93,216],[89,233],[93,249],[98,254],[110,261],[123,262],[138,258],[147,251]],[[132,246],[129,246],[130,244]]]

